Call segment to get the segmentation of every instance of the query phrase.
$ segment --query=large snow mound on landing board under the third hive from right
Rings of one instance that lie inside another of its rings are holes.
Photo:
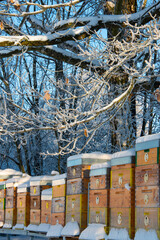
[[[80,234],[79,239],[98,240],[106,236],[103,224],[89,224],[89,226]]]

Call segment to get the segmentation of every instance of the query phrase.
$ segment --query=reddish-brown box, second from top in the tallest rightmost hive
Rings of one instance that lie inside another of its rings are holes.
[[[136,187],[154,186],[160,184],[160,165],[150,164],[136,167]]]

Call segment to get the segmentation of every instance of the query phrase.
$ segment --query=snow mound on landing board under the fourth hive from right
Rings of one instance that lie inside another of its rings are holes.
[[[79,234],[80,228],[77,222],[68,222],[61,232],[61,235],[66,237],[74,237]]]

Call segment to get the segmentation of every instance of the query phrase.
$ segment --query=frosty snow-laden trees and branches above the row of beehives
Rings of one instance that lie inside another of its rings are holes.
[[[141,88],[149,90],[152,83],[147,95],[151,103],[151,93],[159,84],[156,19],[160,3],[148,7],[145,3],[133,13],[135,3],[128,3],[124,9],[119,7],[121,1],[116,1],[114,11],[107,10],[112,15],[103,15],[108,2],[47,1],[44,5],[41,1],[1,1],[1,93],[6,107],[0,119],[0,134],[2,139],[15,139],[21,166],[27,165],[23,163],[24,155],[33,151],[26,148],[27,144],[36,146],[38,155],[34,160],[29,158],[28,172],[36,159],[36,169],[41,167],[35,173],[42,171],[39,152],[47,157],[58,153],[60,171],[62,155],[92,150],[93,136],[99,129],[100,136],[108,136],[103,143],[107,151],[134,145],[135,93],[138,96]],[[107,29],[110,39],[104,37],[100,31],[103,29]],[[4,71],[10,63],[11,70]],[[10,73],[8,77],[5,72]],[[145,99],[146,96],[144,105]],[[153,108],[140,124],[143,134],[147,121],[152,132]],[[127,126],[125,131],[123,123]],[[41,140],[48,133],[56,142],[51,153],[46,152]]]

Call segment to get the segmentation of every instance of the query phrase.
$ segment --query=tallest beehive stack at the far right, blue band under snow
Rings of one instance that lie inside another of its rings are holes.
[[[160,134],[136,140],[136,229],[159,231]]]

